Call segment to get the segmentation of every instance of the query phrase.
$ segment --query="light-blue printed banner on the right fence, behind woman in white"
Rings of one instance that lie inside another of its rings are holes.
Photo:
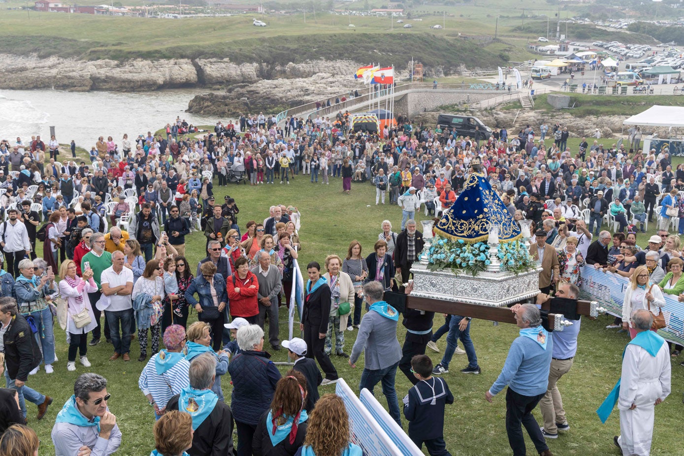
[[[581,277],[580,299],[597,301],[609,314],[622,316],[624,291],[629,286],[627,278],[596,271],[590,265],[582,268]],[[665,307],[662,310],[668,327],[659,330],[658,334],[666,340],[684,345],[684,303],[679,302],[676,295],[665,295]]]

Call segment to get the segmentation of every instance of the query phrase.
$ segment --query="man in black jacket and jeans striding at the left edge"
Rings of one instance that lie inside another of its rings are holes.
[[[18,312],[16,301],[12,297],[0,298],[0,336],[2,347],[5,352],[5,364],[7,373],[5,377],[10,380],[9,388],[19,394],[19,406],[26,418],[25,399],[38,405],[38,420],[41,420],[47,412],[47,407],[52,403],[52,398],[44,396],[26,386],[29,372],[36,368],[42,360],[40,347],[31,332],[29,323]]]

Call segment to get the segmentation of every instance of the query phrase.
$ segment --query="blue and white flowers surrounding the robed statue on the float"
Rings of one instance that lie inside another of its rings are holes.
[[[521,273],[536,267],[529,255],[527,245],[522,241],[499,243],[497,258],[501,271]],[[469,273],[473,277],[484,271],[492,261],[489,257],[489,245],[486,242],[465,243],[462,239],[455,241],[443,237],[435,237],[428,251],[428,269],[451,269],[455,274]]]

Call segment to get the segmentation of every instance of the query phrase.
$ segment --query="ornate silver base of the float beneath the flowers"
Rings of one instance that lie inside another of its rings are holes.
[[[482,271],[476,277],[468,273],[456,276],[447,270],[430,271],[424,263],[413,263],[412,296],[502,307],[534,297],[539,291],[541,268],[518,273]]]

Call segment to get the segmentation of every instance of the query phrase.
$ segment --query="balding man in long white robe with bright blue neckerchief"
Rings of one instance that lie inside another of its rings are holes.
[[[637,335],[624,349],[618,409],[620,434],[615,444],[624,456],[648,456],[653,440],[655,406],[670,394],[670,350],[665,339],[650,331],[653,314],[632,314]]]

